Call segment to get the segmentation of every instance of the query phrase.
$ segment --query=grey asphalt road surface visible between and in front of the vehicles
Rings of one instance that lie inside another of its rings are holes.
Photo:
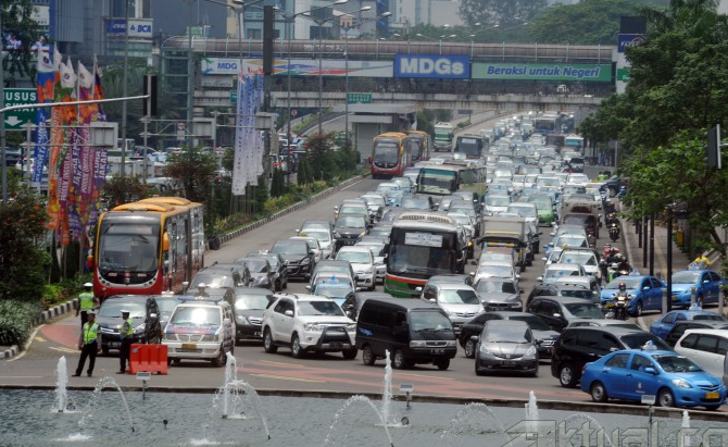
[[[222,249],[208,253],[205,263],[228,262],[250,251],[267,249],[280,238],[294,234],[296,228],[307,219],[331,219],[334,207],[342,199],[357,197],[376,189],[378,181],[364,179],[332,195],[318,203],[289,214],[238,239],[227,243]],[[548,240],[549,228],[543,228],[542,240]],[[603,232],[604,233],[604,232]],[[604,241],[600,240],[600,246]],[[468,265],[469,269],[473,266]],[[529,268],[522,277],[522,286],[530,291],[535,277],[540,273],[538,263]],[[304,293],[305,284],[291,282],[289,293]],[[378,286],[380,289],[381,286]],[[75,369],[78,351],[75,348],[78,336],[78,320],[70,314],[52,324],[38,328],[28,349],[21,356],[0,362],[0,385],[53,385],[55,368],[61,356],[67,359],[67,369]],[[249,343],[236,346],[241,378],[256,388],[266,389],[311,389],[351,393],[377,393],[381,389],[384,361],[374,367],[362,363],[361,353],[354,360],[343,360],[338,353],[309,356],[293,359],[288,349],[281,348],[276,355],[263,351],[261,344]],[[96,376],[114,375],[118,370],[118,359],[112,351],[110,357],[99,357]],[[154,375],[150,387],[216,388],[224,381],[224,370],[213,368],[208,362],[183,361],[170,369],[167,375]],[[138,386],[131,375],[114,375],[122,386]],[[71,377],[72,386],[93,386],[97,380]],[[439,371],[431,365],[419,365],[413,370],[396,371],[393,384],[415,385],[418,395],[459,396],[472,398],[519,398],[527,399],[528,392],[535,390],[541,399],[588,401],[589,396],[578,389],[562,388],[551,376],[549,363],[541,364],[538,377],[500,376],[478,377],[474,372],[474,361],[465,358],[462,350],[451,362],[448,371]]]

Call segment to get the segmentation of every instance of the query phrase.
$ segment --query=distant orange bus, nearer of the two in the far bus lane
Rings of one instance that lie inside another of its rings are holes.
[[[400,132],[377,135],[372,145],[372,178],[401,176],[418,153],[418,138]]]

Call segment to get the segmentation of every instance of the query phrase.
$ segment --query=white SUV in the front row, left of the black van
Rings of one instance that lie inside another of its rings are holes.
[[[263,348],[268,353],[286,346],[296,358],[306,351],[341,351],[351,360],[356,357],[355,331],[339,305],[316,295],[278,295],[263,313]]]

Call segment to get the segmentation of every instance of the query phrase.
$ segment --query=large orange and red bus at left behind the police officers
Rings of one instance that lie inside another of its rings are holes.
[[[153,197],[124,203],[99,219],[93,254],[93,294],[179,293],[204,266],[202,203]]]

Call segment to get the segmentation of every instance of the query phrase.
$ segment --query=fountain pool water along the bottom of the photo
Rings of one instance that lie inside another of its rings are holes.
[[[103,381],[103,378],[102,378]],[[215,394],[125,393],[131,414],[128,420],[122,396],[115,388],[104,388],[96,396],[92,392],[67,390],[75,409],[59,413],[53,390],[0,389],[0,445],[25,446],[204,446],[235,445],[256,447],[389,446],[390,440],[368,399],[354,399],[350,408],[340,412],[342,399],[290,398],[261,396],[261,408],[267,419],[271,439],[253,409],[244,418],[223,419],[211,411]],[[218,398],[218,396],[217,396]],[[351,400],[351,399],[350,399]],[[89,414],[88,408],[92,403]],[[606,446],[597,439],[598,427],[591,426],[592,442],[582,444],[588,418],[574,418],[574,412],[539,409],[538,444],[517,433],[525,432],[522,408],[492,407],[487,411],[462,411],[462,405],[392,401],[392,411],[409,419],[406,426],[389,427],[391,444],[398,447],[423,446],[503,446],[511,438],[513,446]],[[335,415],[338,419],[335,423]],[[645,408],[647,414],[647,408]],[[230,414],[231,417],[234,414]],[[570,417],[570,418],[569,418]],[[647,417],[626,414],[594,414],[614,446],[645,446],[635,444],[641,430],[647,429]],[[84,421],[83,423],[81,420]],[[165,424],[164,421],[167,421]],[[550,425],[551,421],[555,421]],[[566,421],[566,422],[564,422]],[[728,445],[728,424],[690,421],[696,431],[692,447],[725,447]],[[502,424],[509,434],[503,433]],[[131,431],[134,426],[134,432]],[[549,429],[555,427],[555,430]],[[655,446],[678,447],[682,421],[655,419]],[[708,430],[708,427],[711,427]],[[627,429],[632,432],[627,433]],[[618,430],[618,432],[614,432]],[[711,432],[712,431],[712,432]],[[556,433],[558,439],[556,440]],[[563,433],[562,433],[563,432]],[[328,440],[327,440],[328,439]]]

